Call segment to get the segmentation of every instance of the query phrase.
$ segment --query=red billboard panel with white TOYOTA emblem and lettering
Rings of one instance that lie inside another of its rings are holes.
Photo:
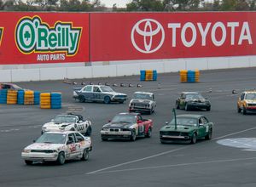
[[[256,13],[90,15],[91,61],[256,54]]]

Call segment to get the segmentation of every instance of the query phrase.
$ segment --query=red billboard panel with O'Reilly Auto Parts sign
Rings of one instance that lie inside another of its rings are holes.
[[[0,13],[0,65],[89,61],[89,14]]]

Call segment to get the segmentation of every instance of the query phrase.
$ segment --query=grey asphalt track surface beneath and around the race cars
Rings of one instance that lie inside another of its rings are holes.
[[[160,74],[157,82],[139,82],[139,77],[96,78],[77,82],[140,83],[143,88],[114,88],[131,98],[137,90],[155,94],[157,108],[143,115],[154,122],[150,139],[135,142],[102,142],[100,130],[115,114],[127,111],[125,104],[104,105],[73,100],[72,85],[62,81],[20,82],[23,88],[62,93],[61,110],[41,110],[38,105],[0,105],[0,186],[256,186],[256,149],[218,144],[218,140],[255,138],[255,115],[236,112],[237,94],[256,88],[256,69],[201,71],[201,82],[181,83],[177,73]],[[77,85],[79,86],[79,85]],[[160,86],[160,88],[158,88]],[[212,89],[212,92],[209,90]],[[197,91],[212,102],[211,111],[181,111],[203,114],[214,122],[212,140],[197,144],[160,144],[159,130],[170,121],[175,99],[182,91]],[[88,161],[67,161],[63,166],[37,163],[26,166],[21,150],[40,135],[41,126],[55,115],[73,111],[93,123],[93,150]]]

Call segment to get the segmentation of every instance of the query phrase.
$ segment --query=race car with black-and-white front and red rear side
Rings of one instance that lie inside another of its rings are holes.
[[[102,127],[102,141],[108,139],[130,139],[135,141],[137,137],[150,138],[152,129],[152,120],[143,119],[139,113],[119,113]]]

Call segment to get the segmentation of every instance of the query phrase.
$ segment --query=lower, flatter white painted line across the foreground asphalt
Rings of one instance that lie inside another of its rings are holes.
[[[137,171],[137,170],[145,170],[145,169],[158,169],[158,168],[166,168],[166,167],[184,167],[184,166],[193,166],[193,165],[210,164],[210,163],[221,163],[221,162],[229,162],[229,161],[248,161],[248,160],[254,160],[254,159],[256,159],[256,157],[234,158],[234,159],[216,160],[216,161],[200,161],[200,162],[180,163],[180,164],[164,165],[164,166],[157,166],[157,167],[135,167],[135,168],[130,168],[130,169],[119,169],[119,170],[112,170],[112,171],[105,171],[105,172],[97,172],[97,174],[99,174],[99,173],[129,172],[129,171]],[[88,173],[88,174],[90,174],[90,173]]]

